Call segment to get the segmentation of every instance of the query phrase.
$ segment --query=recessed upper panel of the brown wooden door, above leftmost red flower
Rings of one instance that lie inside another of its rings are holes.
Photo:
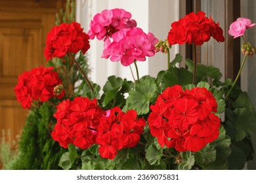
[[[24,71],[43,64],[41,28],[0,28],[0,37],[0,82],[9,83]]]

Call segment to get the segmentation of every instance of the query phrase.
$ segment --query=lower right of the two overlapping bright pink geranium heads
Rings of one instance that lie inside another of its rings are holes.
[[[111,61],[121,61],[124,66],[131,65],[133,61],[145,61],[146,56],[154,56],[154,45],[158,39],[152,33],[144,33],[142,29],[133,27],[121,29],[112,35],[113,41],[106,40],[102,58]]]

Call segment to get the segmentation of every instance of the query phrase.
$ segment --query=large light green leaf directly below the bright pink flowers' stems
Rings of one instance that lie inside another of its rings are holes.
[[[155,78],[144,76],[140,78],[140,82],[135,86],[135,90],[129,92],[127,97],[127,109],[137,110],[137,114],[146,114],[150,110],[150,103],[153,103],[157,97],[158,88]]]

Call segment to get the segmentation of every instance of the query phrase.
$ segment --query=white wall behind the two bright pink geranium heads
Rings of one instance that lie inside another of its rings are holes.
[[[137,27],[154,33],[161,40],[167,39],[167,34],[171,28],[171,23],[179,20],[179,0],[77,0],[77,22],[84,27],[87,32],[89,23],[93,16],[104,9],[123,8],[131,12],[132,19],[137,21]],[[121,63],[114,63],[110,60],[100,58],[103,50],[103,41],[90,41],[91,48],[88,52],[89,63],[93,69],[91,79],[93,82],[104,86],[108,76],[116,75],[121,78],[133,80],[129,67],[124,67]],[[171,49],[171,58],[179,52],[179,47]],[[167,56],[157,53],[156,56],[148,58],[146,61],[139,61],[140,77],[144,75],[156,76],[163,69],[167,69]],[[136,75],[135,66],[131,65],[133,73]],[[135,76],[136,77],[136,76]]]

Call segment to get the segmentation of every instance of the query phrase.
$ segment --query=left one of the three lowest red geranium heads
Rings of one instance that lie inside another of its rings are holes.
[[[59,103],[54,114],[57,124],[52,137],[64,148],[68,148],[68,144],[81,149],[89,148],[95,144],[97,127],[103,114],[105,112],[98,107],[96,99],[76,97],[74,101],[64,100]],[[60,138],[61,134],[65,138]]]

